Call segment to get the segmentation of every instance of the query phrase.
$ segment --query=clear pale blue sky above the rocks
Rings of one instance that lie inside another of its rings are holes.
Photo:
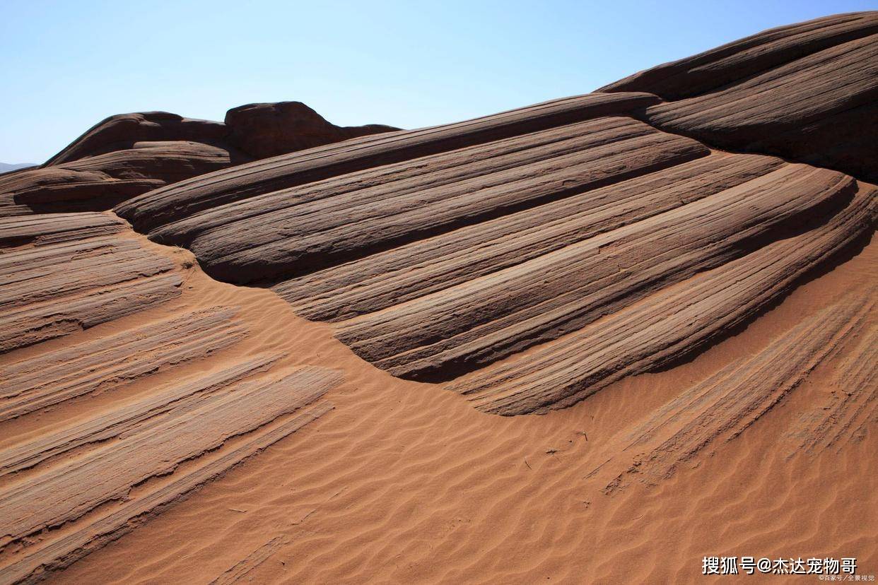
[[[299,100],[414,128],[608,82],[878,0],[0,0],[0,161],[42,162],[127,111],[222,120]]]

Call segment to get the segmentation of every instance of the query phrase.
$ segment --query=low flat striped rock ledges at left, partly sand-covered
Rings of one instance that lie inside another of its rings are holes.
[[[236,307],[156,316],[181,270],[125,230],[0,218],[0,583],[40,581],[332,409],[313,403],[334,370],[223,355],[248,337]]]

